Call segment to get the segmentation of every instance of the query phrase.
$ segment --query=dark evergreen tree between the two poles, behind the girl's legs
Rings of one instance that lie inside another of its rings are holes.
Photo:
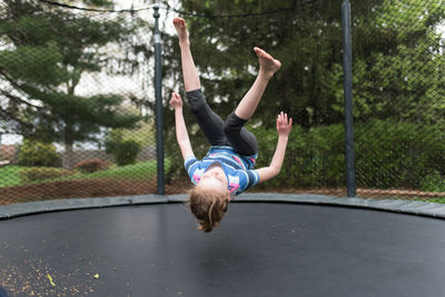
[[[236,107],[254,81],[258,62],[253,48],[258,46],[281,60],[283,67],[253,121],[273,127],[280,110],[306,128],[343,121],[337,108],[343,102],[338,96],[343,93],[342,2],[184,0],[184,10],[207,16],[188,18],[188,22],[195,62],[210,103],[222,115]],[[380,2],[360,3],[373,8]]]

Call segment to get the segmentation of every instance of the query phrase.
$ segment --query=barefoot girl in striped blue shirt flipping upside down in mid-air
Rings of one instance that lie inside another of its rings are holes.
[[[238,107],[224,121],[207,105],[190,51],[186,21],[175,18],[179,38],[184,85],[189,107],[211,147],[202,160],[195,158],[182,116],[182,99],[171,93],[175,109],[176,138],[185,160],[186,170],[196,186],[190,191],[190,210],[199,222],[198,229],[209,232],[219,225],[227,211],[227,202],[258,182],[268,180],[281,170],[291,118],[283,111],[277,118],[278,143],[268,167],[254,170],[258,156],[255,136],[244,125],[254,115],[269,79],[281,67],[266,51],[254,48],[259,60],[258,76]]]

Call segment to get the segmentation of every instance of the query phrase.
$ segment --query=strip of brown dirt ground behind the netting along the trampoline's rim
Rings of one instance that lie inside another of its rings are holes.
[[[190,189],[188,180],[180,180],[166,184],[166,195],[184,194]],[[345,189],[277,189],[257,187],[250,192],[289,192],[289,194],[318,194],[336,197],[345,197]],[[135,181],[122,179],[83,179],[65,180],[46,184],[16,186],[0,188],[0,205],[9,205],[27,201],[39,201],[47,199],[66,198],[92,198],[92,197],[115,197],[147,195],[157,192],[156,180]],[[363,198],[398,198],[398,199],[435,199],[445,197],[445,192],[424,192],[415,190],[380,190],[380,189],[357,189],[357,196]]]

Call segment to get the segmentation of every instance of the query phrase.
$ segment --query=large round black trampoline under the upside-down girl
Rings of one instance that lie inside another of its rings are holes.
[[[184,204],[171,202],[184,198],[151,197],[152,204],[117,198],[113,204],[120,206],[107,208],[89,208],[109,202],[102,198],[49,201],[57,210],[17,212],[0,221],[0,285],[7,296],[445,291],[443,219],[358,207],[388,210],[399,204],[398,209],[408,209],[415,204],[416,212],[445,214],[438,205],[375,201],[377,207],[359,199],[250,194],[229,205],[220,227],[204,234]],[[9,211],[3,218],[14,207],[3,207],[3,214]],[[46,210],[48,205],[34,211]]]

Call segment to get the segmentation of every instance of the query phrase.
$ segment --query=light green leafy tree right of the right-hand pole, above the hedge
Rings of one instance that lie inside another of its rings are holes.
[[[355,22],[357,120],[425,125],[445,118],[445,56],[437,30],[444,20],[441,1],[386,1],[374,16]]]

